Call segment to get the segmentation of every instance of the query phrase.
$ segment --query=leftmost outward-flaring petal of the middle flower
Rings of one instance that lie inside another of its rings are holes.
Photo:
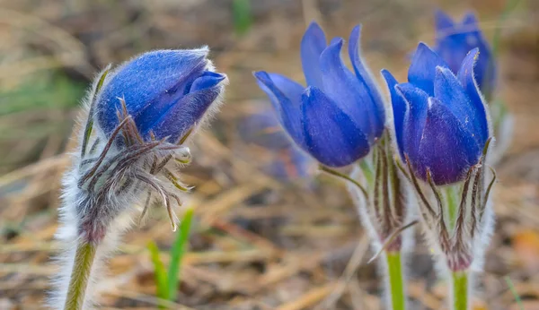
[[[278,112],[278,120],[298,145],[305,145],[300,125],[300,105],[304,87],[277,73],[259,71],[254,73],[261,90],[270,97]]]

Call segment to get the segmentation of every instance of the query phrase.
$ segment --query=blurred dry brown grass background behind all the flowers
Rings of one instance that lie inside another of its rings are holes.
[[[60,178],[93,74],[146,50],[202,45],[230,86],[184,171],[195,219],[172,308],[378,309],[376,264],[340,182],[317,176],[303,154],[244,134],[260,125],[245,117],[269,107],[252,71],[304,81],[306,25],[348,38],[362,23],[367,65],[378,80],[387,68],[402,81],[417,43],[434,42],[437,8],[456,19],[475,11],[490,41],[501,28],[497,98],[515,117],[473,309],[539,309],[539,1],[511,3],[499,22],[506,0],[0,0],[0,309],[42,308]],[[155,209],[124,237],[99,284],[102,309],[157,307],[146,245],[154,240],[168,263],[165,213]],[[422,242],[409,269],[411,308],[443,309],[446,284]]]

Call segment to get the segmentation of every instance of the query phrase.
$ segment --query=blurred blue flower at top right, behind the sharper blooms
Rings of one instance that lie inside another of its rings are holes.
[[[480,56],[474,70],[475,81],[487,98],[490,98],[496,82],[496,65],[475,14],[467,13],[462,22],[455,22],[446,13],[437,11],[435,19],[437,46],[434,50],[444,58],[453,73],[458,73],[469,51],[479,48]]]

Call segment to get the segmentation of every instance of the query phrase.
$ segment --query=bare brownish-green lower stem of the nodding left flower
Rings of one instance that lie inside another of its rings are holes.
[[[69,281],[64,310],[80,310],[83,308],[84,295],[96,250],[97,245],[85,242],[80,242],[76,246],[75,263],[71,271],[71,280]]]

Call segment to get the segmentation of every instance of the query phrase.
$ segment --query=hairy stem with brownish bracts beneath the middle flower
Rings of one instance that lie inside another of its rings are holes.
[[[349,193],[376,251],[369,263],[380,259],[385,269],[387,308],[404,310],[406,287],[402,268],[405,259],[403,251],[407,245],[410,246],[412,238],[408,228],[417,221],[411,219],[408,206],[412,202],[406,176],[397,165],[391,137],[386,133],[371,154],[359,161],[350,177],[333,175],[349,181]]]

